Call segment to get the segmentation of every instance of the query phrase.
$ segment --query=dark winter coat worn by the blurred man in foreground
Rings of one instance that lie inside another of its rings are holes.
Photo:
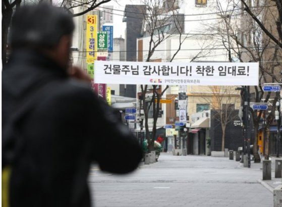
[[[11,206],[90,206],[89,166],[127,173],[142,151],[112,109],[82,81],[33,51],[15,51],[2,73],[2,127],[36,88],[48,84],[19,124],[24,139],[12,168]]]

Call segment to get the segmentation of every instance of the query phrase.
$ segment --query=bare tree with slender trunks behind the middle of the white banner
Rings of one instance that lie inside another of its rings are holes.
[[[168,38],[173,35],[179,35],[179,47],[175,52],[173,57],[170,59],[170,62],[173,61],[177,53],[181,50],[181,46],[187,35],[183,38],[184,30],[184,21],[181,21],[181,16],[177,12],[177,1],[167,1],[167,5],[161,5],[163,1],[160,0],[144,0],[142,3],[146,7],[144,13],[144,37],[149,37],[149,49],[146,57],[146,62],[151,61],[155,49],[163,43]],[[172,28],[170,28],[172,27]],[[160,99],[164,92],[167,90],[168,85],[164,88],[159,87],[158,85],[152,85],[152,89],[148,90],[148,85],[141,85],[141,102],[143,102],[143,110],[145,117],[145,131],[146,139],[148,141],[149,151],[153,150],[154,138],[156,136],[156,124],[158,119],[158,114],[160,111]],[[148,101],[146,99],[146,94],[151,93],[151,97]],[[152,135],[149,133],[149,110],[153,109],[153,127]]]

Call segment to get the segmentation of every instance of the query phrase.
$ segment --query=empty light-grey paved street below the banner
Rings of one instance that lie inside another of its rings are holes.
[[[260,169],[228,158],[173,156],[143,165],[127,176],[90,172],[95,206],[273,206],[273,195],[258,183]]]

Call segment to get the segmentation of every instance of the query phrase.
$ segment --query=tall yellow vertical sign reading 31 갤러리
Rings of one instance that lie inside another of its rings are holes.
[[[86,63],[97,58],[97,15],[86,16]]]

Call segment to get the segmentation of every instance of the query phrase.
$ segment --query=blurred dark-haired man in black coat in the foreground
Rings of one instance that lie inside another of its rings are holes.
[[[12,54],[2,73],[6,205],[90,206],[92,161],[122,174],[141,160],[137,140],[87,76],[68,70],[73,30],[68,13],[46,5],[23,7],[12,20]]]

